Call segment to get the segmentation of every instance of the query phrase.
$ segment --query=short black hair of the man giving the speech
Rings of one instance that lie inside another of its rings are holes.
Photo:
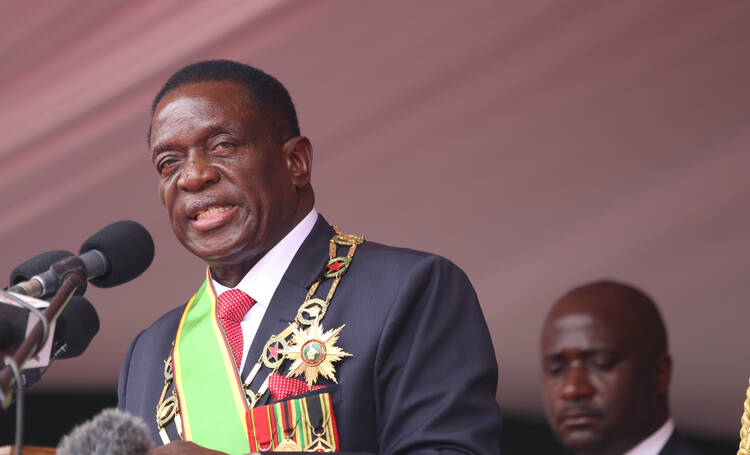
[[[271,139],[281,144],[300,135],[297,111],[289,92],[275,77],[244,63],[231,60],[204,60],[190,64],[174,73],[159,90],[151,104],[156,106],[171,90],[186,84],[205,81],[233,81],[245,86],[258,111],[270,119]],[[151,142],[151,128],[148,140]]]

